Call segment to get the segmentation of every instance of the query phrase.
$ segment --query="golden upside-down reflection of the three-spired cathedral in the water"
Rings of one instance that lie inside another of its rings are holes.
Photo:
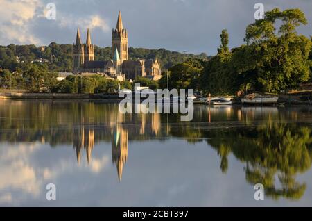
[[[94,112],[92,112],[94,113]],[[83,111],[81,112],[83,114]],[[80,165],[82,150],[85,149],[87,163],[91,163],[92,151],[96,139],[108,137],[112,142],[112,163],[116,165],[118,179],[121,181],[123,175],[123,166],[128,159],[128,139],[137,136],[154,135],[157,136],[161,131],[161,116],[158,113],[146,115],[135,115],[127,118],[125,115],[117,112],[110,112],[107,117],[107,124],[104,129],[97,130],[94,125],[94,116],[89,116],[87,122],[81,117],[81,124],[73,129],[73,147],[76,150],[78,165]],[[127,122],[135,122],[135,128],[129,130]],[[130,134],[129,134],[130,133]]]

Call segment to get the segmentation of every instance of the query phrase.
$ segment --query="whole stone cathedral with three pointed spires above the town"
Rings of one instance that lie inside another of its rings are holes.
[[[94,45],[91,42],[89,28],[85,44],[81,41],[78,28],[76,43],[73,44],[73,72],[75,74],[102,74],[119,81],[134,80],[137,76],[157,81],[162,77],[157,59],[129,60],[128,31],[123,28],[120,11],[116,28],[112,30],[112,55],[112,60],[94,60]]]

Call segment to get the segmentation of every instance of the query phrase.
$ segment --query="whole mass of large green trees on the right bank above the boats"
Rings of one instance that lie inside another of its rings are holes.
[[[279,92],[309,81],[312,44],[296,33],[300,24],[307,24],[301,10],[275,8],[250,24],[245,33],[247,44],[232,51],[223,31],[218,54],[203,71],[202,90],[217,94],[239,90]]]

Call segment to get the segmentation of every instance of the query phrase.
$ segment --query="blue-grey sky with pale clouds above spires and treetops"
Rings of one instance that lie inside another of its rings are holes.
[[[121,10],[130,47],[214,55],[223,29],[229,47],[243,44],[258,2],[265,10],[300,8],[309,24],[298,32],[312,35],[312,0],[0,0],[0,44],[73,44],[77,27],[83,41],[89,27],[92,43],[107,47]],[[45,16],[48,3],[55,19]]]

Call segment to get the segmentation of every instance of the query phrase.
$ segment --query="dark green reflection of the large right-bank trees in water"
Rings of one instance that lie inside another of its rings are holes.
[[[266,195],[273,199],[300,199],[306,184],[297,182],[295,176],[311,167],[310,134],[307,127],[272,123],[254,130],[218,132],[209,144],[217,149],[223,172],[228,167],[227,155],[232,152],[246,163],[246,180],[262,183]],[[276,177],[279,182],[275,181]]]

